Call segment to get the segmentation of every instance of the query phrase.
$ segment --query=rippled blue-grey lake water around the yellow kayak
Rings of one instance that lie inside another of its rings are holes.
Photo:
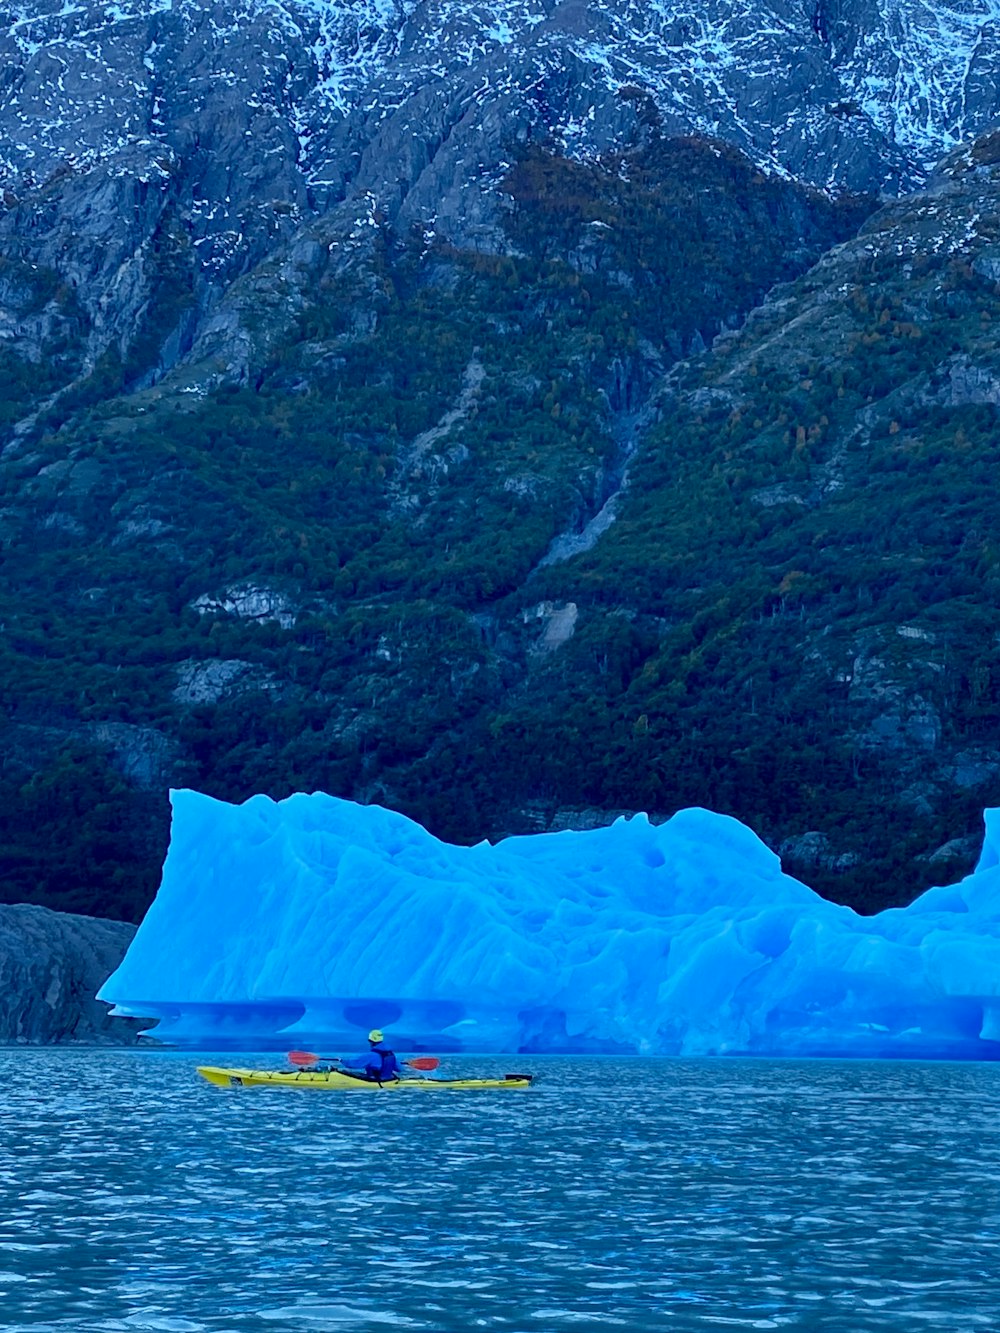
[[[0,1330],[1000,1329],[1000,1066],[0,1050]],[[255,1057],[257,1065],[272,1057]]]

